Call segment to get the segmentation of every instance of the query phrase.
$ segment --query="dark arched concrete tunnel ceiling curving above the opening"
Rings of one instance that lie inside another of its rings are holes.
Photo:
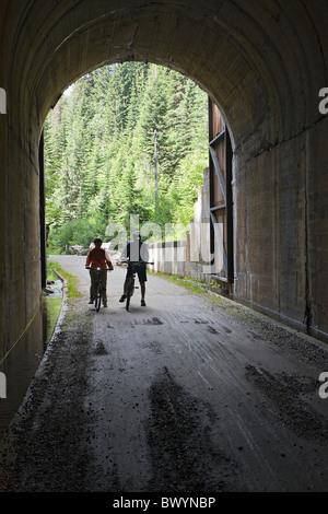
[[[71,82],[133,59],[194,79],[220,105],[236,144],[259,131],[262,140],[288,139],[319,116],[324,0],[2,0],[0,9],[11,47],[1,73],[20,84],[13,127],[33,120],[40,130]]]

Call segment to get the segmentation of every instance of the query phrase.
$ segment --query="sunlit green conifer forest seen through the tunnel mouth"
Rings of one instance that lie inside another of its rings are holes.
[[[105,66],[69,91],[44,126],[49,252],[109,241],[108,223],[128,230],[131,214],[163,233],[188,226],[208,166],[207,94],[144,62]]]

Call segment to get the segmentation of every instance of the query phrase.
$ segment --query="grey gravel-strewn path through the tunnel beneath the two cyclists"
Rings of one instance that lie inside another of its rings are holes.
[[[324,343],[241,305],[150,276],[108,308],[79,277],[19,416],[1,442],[0,491],[327,491]]]

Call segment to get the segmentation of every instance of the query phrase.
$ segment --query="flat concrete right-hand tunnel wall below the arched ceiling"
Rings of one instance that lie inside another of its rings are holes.
[[[326,119],[236,162],[234,194],[236,297],[326,339],[325,133]]]

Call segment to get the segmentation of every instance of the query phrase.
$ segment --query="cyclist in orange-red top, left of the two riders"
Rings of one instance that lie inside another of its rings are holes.
[[[106,253],[104,248],[102,248],[103,240],[101,237],[95,237],[94,247],[89,252],[85,261],[85,268],[91,267],[90,270],[90,278],[91,278],[91,287],[90,287],[90,304],[94,302],[95,296],[95,287],[96,287],[96,268],[101,268],[101,280],[103,284],[103,305],[107,307],[107,271],[106,269],[114,269],[113,262],[110,260],[109,255]],[[94,268],[94,269],[93,269]]]

